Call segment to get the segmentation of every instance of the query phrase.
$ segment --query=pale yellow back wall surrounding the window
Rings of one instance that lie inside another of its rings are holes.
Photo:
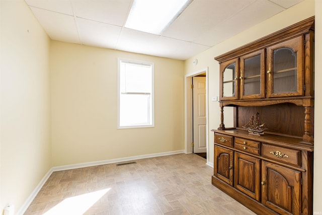
[[[184,63],[52,41],[53,166],[184,150]],[[154,62],[155,127],[117,129],[117,58]]]

